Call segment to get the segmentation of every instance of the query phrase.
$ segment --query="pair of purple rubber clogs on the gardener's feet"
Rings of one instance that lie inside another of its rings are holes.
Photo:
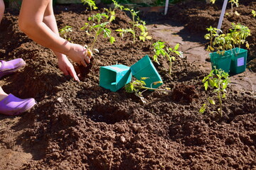
[[[6,62],[0,60],[0,79],[8,74],[16,72],[21,67],[26,65],[26,62],[21,58]],[[13,94],[9,94],[0,101],[0,113],[4,115],[20,115],[31,109],[36,104],[34,98],[21,99],[17,98]]]

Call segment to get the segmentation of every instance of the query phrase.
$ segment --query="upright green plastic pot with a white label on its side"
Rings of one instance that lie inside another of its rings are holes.
[[[247,50],[236,47],[230,50],[230,53],[232,53],[230,73],[238,74],[241,72],[245,72],[247,62]]]

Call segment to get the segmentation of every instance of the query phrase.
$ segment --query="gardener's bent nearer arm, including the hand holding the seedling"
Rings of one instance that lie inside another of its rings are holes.
[[[50,48],[53,52],[67,55],[73,62],[86,67],[86,62],[90,63],[87,50],[81,45],[60,38],[56,33],[58,32],[57,26],[50,22],[52,18],[49,18],[52,16],[48,15],[49,5],[51,5],[51,0],[23,0],[18,19],[19,28],[38,44]]]

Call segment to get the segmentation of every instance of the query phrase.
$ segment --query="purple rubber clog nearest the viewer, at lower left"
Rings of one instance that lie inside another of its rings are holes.
[[[35,104],[36,101],[34,98],[21,99],[13,94],[9,94],[0,101],[0,113],[4,115],[20,115],[31,109]]]

